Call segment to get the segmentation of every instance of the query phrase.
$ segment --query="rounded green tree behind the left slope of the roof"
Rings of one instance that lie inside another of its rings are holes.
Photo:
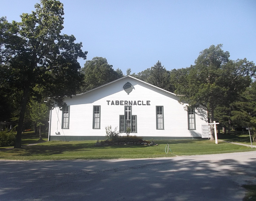
[[[118,78],[123,77],[113,66],[108,64],[106,58],[94,57],[92,60],[86,61],[82,72],[84,73],[85,87],[82,92],[89,91]]]

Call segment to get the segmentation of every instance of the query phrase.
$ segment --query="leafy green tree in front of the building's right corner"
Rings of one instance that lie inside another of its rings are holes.
[[[229,60],[229,53],[221,49],[222,45],[211,45],[200,52],[195,65],[176,72],[176,94],[180,101],[192,107],[203,105],[208,110],[210,123],[218,105],[234,102],[239,93],[250,85],[255,73],[255,65],[246,59]],[[175,80],[172,77],[172,82]],[[212,131],[212,140],[214,132]]]

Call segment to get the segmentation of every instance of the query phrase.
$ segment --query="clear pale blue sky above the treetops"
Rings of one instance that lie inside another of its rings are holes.
[[[39,0],[0,0],[0,17],[20,22]],[[64,29],[114,69],[138,73],[159,60],[190,67],[200,51],[223,44],[230,59],[256,63],[256,0],[60,0]],[[81,67],[85,61],[79,60]]]

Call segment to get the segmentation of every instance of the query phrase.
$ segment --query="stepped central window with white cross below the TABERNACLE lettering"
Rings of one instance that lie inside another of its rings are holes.
[[[137,132],[137,116],[132,115],[132,106],[124,106],[124,115],[119,117],[119,131],[126,132],[131,128],[131,132]]]

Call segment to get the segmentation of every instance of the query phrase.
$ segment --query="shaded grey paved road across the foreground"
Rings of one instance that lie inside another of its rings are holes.
[[[140,160],[0,161],[1,201],[242,201],[256,151]]]

